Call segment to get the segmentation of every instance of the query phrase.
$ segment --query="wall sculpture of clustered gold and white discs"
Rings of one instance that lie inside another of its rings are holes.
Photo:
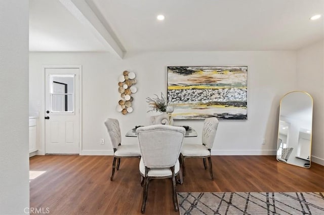
[[[134,101],[134,97],[132,94],[137,92],[137,88],[134,86],[137,82],[135,77],[136,75],[134,72],[129,72],[127,70],[118,77],[118,92],[121,99],[118,101],[116,111],[124,115],[133,112],[132,102]]]

